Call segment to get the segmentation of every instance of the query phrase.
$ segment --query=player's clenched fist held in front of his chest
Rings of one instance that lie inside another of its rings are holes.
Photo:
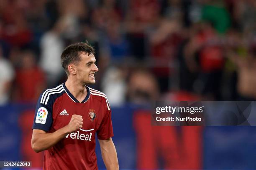
[[[72,133],[79,128],[82,128],[84,123],[82,116],[80,115],[72,115],[71,120],[65,128],[67,129],[67,133]]]

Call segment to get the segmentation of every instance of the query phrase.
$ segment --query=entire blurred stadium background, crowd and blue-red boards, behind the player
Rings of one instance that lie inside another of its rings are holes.
[[[156,100],[255,100],[255,0],[1,0],[0,160],[41,168],[36,101],[65,82],[64,47],[86,41],[120,169],[256,169],[256,127],[151,126],[150,115]]]

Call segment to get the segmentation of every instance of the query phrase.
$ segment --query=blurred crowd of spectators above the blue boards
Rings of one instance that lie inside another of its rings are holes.
[[[62,83],[64,47],[96,49],[110,104],[255,100],[255,0],[3,0],[0,104]]]

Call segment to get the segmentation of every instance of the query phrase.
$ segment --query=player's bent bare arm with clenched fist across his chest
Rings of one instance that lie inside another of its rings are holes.
[[[56,130],[54,133],[46,133],[44,130],[33,129],[31,146],[38,153],[47,150],[63,139],[67,134],[82,128],[83,119],[80,115],[72,115],[68,125]]]

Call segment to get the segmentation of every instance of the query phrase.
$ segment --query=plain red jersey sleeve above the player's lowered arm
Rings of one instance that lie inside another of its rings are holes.
[[[103,117],[100,128],[97,130],[97,138],[100,140],[107,140],[113,136],[114,134],[111,121],[111,110],[108,110]]]

